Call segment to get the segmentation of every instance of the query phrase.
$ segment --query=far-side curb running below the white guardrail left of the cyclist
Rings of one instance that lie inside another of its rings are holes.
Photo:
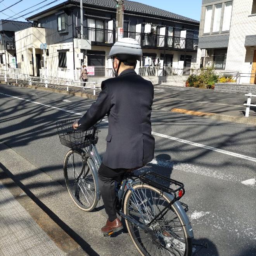
[[[97,99],[97,95],[92,95],[89,93],[82,93],[82,92],[67,92],[64,90],[57,90],[57,89],[52,89],[52,88],[45,88],[43,86],[35,86],[35,85],[23,85],[20,83],[10,83],[10,82],[5,82],[5,81],[0,81],[1,84],[4,85],[14,85],[17,87],[24,87],[24,88],[29,88],[29,89],[36,89],[36,90],[41,90],[41,91],[48,91],[48,92],[55,92],[55,93],[62,93],[65,95],[71,95],[71,96],[77,96],[77,97],[82,97],[82,98],[86,98],[86,99],[92,99],[92,100],[96,100]]]

